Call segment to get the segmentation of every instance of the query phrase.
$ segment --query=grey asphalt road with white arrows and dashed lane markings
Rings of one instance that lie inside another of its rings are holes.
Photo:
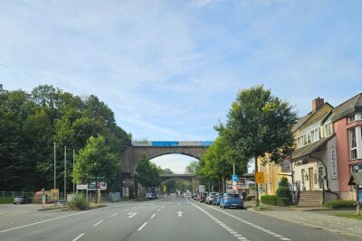
[[[1,207],[0,207],[1,208]],[[0,240],[360,240],[191,199],[109,204],[88,211],[0,216]]]

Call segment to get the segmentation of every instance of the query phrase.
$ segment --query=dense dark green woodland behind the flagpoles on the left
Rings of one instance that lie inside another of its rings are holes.
[[[51,189],[55,142],[59,188],[64,146],[78,153],[90,136],[99,134],[110,153],[118,156],[130,144],[130,135],[116,125],[113,112],[98,97],[81,98],[51,85],[30,93],[0,91],[0,186],[3,190]],[[71,187],[71,164],[67,169],[67,187]]]

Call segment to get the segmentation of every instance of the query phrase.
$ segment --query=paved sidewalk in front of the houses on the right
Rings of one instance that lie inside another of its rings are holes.
[[[254,202],[245,202],[246,207],[254,207]],[[274,218],[282,218],[302,225],[326,229],[331,232],[348,236],[356,236],[362,239],[362,221],[353,218],[333,216],[338,212],[355,213],[352,210],[334,210],[325,208],[295,208],[264,205],[268,210],[258,210],[261,214]]]

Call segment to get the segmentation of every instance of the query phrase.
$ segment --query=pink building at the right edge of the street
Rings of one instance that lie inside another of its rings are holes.
[[[352,165],[362,163],[362,93],[333,110],[336,134],[338,186],[341,199],[356,199],[356,190],[348,186]]]

